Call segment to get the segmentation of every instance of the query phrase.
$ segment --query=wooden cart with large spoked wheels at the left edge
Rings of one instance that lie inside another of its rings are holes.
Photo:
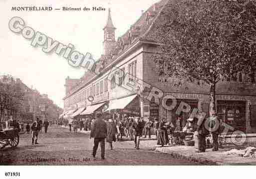
[[[19,143],[19,129],[0,130],[0,149],[6,146],[17,147]]]

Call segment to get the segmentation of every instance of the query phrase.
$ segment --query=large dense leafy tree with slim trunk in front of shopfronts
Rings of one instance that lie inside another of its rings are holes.
[[[172,0],[167,5],[160,27],[164,45],[160,47],[161,55],[155,57],[159,72],[178,78],[178,85],[182,80],[208,84],[212,114],[216,111],[216,84],[220,80],[232,78],[238,72],[254,73],[255,3]]]

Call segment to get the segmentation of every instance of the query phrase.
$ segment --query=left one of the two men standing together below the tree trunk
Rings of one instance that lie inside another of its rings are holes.
[[[199,140],[199,151],[198,152],[205,152],[206,151],[206,136],[209,134],[208,129],[205,127],[205,118],[201,118],[198,120],[197,123],[197,132],[198,132],[198,140]]]

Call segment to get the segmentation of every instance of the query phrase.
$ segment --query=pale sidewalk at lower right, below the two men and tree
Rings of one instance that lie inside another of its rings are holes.
[[[175,158],[182,158],[199,162],[204,165],[256,165],[256,158],[238,157],[236,155],[225,154],[226,151],[231,149],[245,149],[249,146],[256,147],[256,143],[247,143],[239,147],[230,144],[217,152],[212,152],[212,149],[207,149],[205,153],[197,153],[197,149],[194,146],[157,146],[156,151],[170,154]]]

